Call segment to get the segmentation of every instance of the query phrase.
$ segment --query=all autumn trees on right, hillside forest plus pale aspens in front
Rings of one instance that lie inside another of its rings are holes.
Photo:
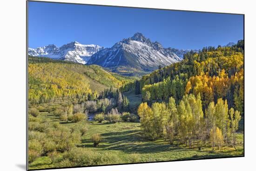
[[[199,149],[207,141],[213,149],[224,143],[236,148],[236,131],[243,131],[243,76],[240,40],[232,47],[191,51],[182,62],[160,66],[122,90],[142,95],[138,114],[146,138]]]

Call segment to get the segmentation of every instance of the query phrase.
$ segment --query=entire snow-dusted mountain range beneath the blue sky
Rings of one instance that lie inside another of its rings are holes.
[[[163,48],[159,42],[151,42],[141,33],[124,38],[111,48],[95,44],[80,44],[76,41],[64,44],[60,48],[54,44],[44,47],[28,48],[28,55],[50,57],[82,64],[98,64],[103,67],[131,67],[151,71],[159,65],[166,66],[181,61],[183,55],[191,50]],[[196,50],[193,50],[196,52]]]

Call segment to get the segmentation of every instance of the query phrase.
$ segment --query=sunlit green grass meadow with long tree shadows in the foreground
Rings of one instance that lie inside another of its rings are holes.
[[[204,158],[223,158],[243,156],[243,133],[237,133],[237,149],[224,146],[221,150],[212,150],[209,145],[202,148],[189,148],[185,145],[169,145],[165,139],[149,141],[141,136],[140,123],[118,122],[98,123],[96,121],[81,121],[77,123],[62,122],[53,113],[40,112],[38,118],[49,120],[50,123],[60,122],[64,127],[88,127],[88,131],[81,137],[79,148],[90,149],[107,155],[116,155],[118,160],[111,164],[141,163],[155,161],[189,160]],[[99,146],[94,147],[90,139],[94,133],[100,133],[102,141]],[[108,163],[107,163],[108,164]],[[43,169],[58,167],[52,164],[49,157],[37,158],[29,165],[29,169]]]

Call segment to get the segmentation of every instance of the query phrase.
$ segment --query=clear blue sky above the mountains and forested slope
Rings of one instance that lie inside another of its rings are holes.
[[[111,47],[141,32],[163,47],[202,49],[243,39],[243,15],[29,2],[28,43]]]

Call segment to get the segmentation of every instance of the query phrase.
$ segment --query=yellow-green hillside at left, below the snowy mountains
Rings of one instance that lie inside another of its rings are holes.
[[[28,58],[29,99],[47,101],[120,88],[134,77],[119,76],[97,65],[82,65],[46,57]]]

